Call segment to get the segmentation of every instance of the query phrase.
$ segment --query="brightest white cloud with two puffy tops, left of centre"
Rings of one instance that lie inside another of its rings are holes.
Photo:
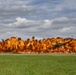
[[[49,28],[52,23],[52,20],[27,20],[26,18],[17,17],[16,22],[10,23],[8,24],[8,26],[21,28]]]

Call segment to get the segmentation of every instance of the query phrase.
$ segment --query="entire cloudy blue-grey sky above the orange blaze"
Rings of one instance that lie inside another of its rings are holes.
[[[0,40],[76,38],[76,0],[0,0]]]

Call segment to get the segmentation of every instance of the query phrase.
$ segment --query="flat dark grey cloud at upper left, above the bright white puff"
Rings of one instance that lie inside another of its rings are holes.
[[[33,6],[7,6],[7,7],[0,7],[0,16],[1,17],[17,17],[17,16],[25,16],[25,17],[31,17],[37,18],[41,15],[45,15],[47,11],[45,9],[42,9],[40,7],[33,7]],[[8,17],[8,18],[9,18]]]

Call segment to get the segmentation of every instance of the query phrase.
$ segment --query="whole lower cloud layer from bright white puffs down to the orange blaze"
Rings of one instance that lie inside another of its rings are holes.
[[[76,37],[75,21],[76,18],[67,17],[51,20],[29,20],[17,17],[12,23],[8,23],[0,29],[0,39],[7,38],[8,36],[17,36],[23,39],[31,38],[32,36],[36,36],[38,39],[57,36]],[[73,24],[71,22],[73,22]]]

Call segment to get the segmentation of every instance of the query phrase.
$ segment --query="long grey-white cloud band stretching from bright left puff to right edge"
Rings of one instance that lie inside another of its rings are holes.
[[[26,18],[17,17],[15,22],[9,23],[9,27],[16,28],[36,28],[36,29],[60,29],[68,26],[75,26],[76,19],[60,17],[51,20],[28,20]]]

